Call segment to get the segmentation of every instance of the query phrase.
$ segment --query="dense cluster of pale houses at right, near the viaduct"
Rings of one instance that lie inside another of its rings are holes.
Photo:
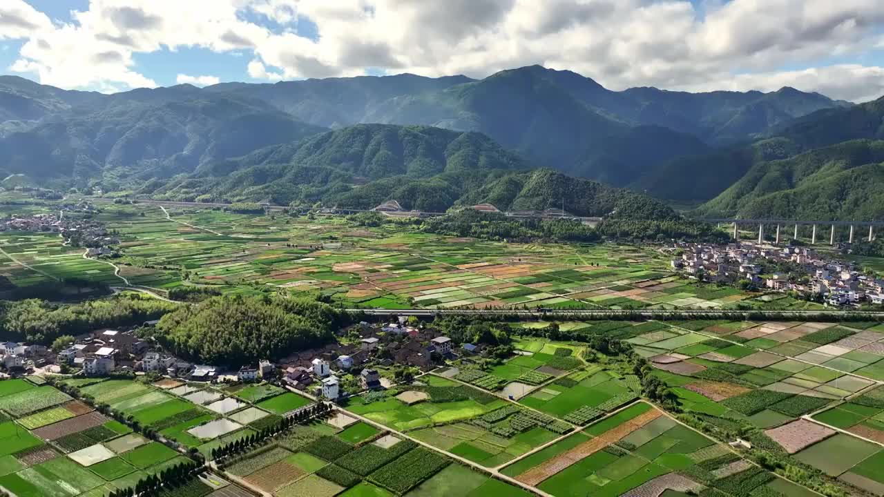
[[[884,279],[870,278],[855,264],[829,260],[811,248],[680,243],[674,249],[682,255],[671,261],[672,268],[691,278],[727,284],[746,279],[773,292],[819,296],[832,306],[884,304]],[[764,262],[789,264],[794,271],[762,274]]]

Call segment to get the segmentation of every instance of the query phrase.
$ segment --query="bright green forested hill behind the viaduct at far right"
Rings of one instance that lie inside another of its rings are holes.
[[[698,212],[741,218],[884,217],[884,141],[844,141],[760,162]]]

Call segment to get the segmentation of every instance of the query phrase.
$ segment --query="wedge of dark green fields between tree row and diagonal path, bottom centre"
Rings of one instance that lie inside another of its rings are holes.
[[[495,486],[500,495],[528,495],[354,418],[296,425],[266,445],[225,461],[224,470],[277,497],[443,497],[452,485],[443,474],[462,478],[454,485],[468,492]]]

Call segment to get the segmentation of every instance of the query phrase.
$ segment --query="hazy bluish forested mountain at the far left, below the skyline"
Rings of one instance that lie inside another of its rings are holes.
[[[64,189],[117,189],[324,131],[261,101],[228,96],[116,99],[97,111],[78,109],[0,137],[0,175],[21,173]]]

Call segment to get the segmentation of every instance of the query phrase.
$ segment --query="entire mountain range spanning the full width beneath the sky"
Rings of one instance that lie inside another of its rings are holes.
[[[844,216],[871,194],[849,200],[840,188],[861,172],[872,182],[864,191],[880,186],[880,160],[839,145],[884,139],[882,107],[794,88],[612,91],[540,66],[483,80],[401,74],[114,95],[0,76],[0,177],[187,200],[364,206],[401,196],[430,210],[483,195],[527,205],[523,175],[543,168],[704,215],[799,203]],[[817,149],[840,165],[809,158]]]

